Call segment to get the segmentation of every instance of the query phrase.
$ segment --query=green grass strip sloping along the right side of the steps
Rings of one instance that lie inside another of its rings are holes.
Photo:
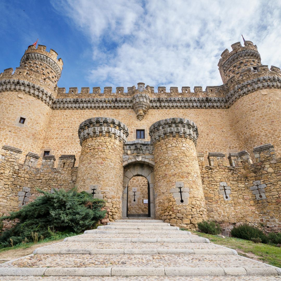
[[[191,233],[196,234],[200,237],[208,238],[211,243],[237,250],[238,254],[241,256],[252,257],[251,254],[253,254],[260,261],[281,268],[280,247],[273,246],[270,244],[253,243],[253,241],[248,241],[234,237],[221,238],[217,235],[205,234],[198,231],[191,231]],[[242,251],[242,253],[239,250]]]

